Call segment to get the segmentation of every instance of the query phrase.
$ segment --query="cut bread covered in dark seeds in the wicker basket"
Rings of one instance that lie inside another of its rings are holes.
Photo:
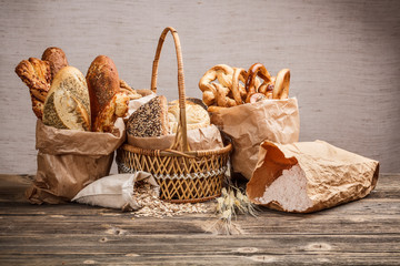
[[[164,96],[156,96],[141,105],[127,122],[128,134],[137,137],[167,135],[168,106]]]

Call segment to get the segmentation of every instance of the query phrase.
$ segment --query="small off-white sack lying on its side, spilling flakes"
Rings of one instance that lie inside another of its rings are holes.
[[[154,177],[147,172],[138,171],[134,174],[117,174],[102,177],[81,190],[72,202],[92,206],[136,211],[142,207],[134,196],[134,183],[146,180],[156,197],[160,195],[160,186]]]

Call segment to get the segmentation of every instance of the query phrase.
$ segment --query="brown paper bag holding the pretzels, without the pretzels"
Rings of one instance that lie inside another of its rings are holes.
[[[233,171],[248,180],[254,171],[261,142],[299,141],[300,117],[296,98],[223,109],[212,113],[211,123],[232,139]]]

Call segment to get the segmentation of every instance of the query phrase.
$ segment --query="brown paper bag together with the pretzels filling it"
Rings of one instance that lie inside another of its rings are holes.
[[[288,69],[271,76],[261,63],[254,63],[248,71],[218,64],[199,82],[211,123],[232,140],[233,171],[248,180],[254,171],[261,142],[299,140],[299,108],[296,98],[288,98],[289,84]]]

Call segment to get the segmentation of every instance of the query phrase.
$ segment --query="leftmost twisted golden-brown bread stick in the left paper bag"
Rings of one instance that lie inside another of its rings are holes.
[[[32,101],[32,110],[42,119],[43,103],[50,90],[50,64],[36,58],[22,60],[16,68],[18,76],[27,84]]]

